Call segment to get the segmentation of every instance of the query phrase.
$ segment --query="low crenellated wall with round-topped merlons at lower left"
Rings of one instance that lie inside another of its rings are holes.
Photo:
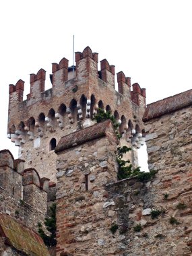
[[[37,228],[47,214],[47,194],[51,189],[49,179],[40,178],[34,168],[25,169],[24,162],[14,160],[9,150],[0,151],[0,212]]]

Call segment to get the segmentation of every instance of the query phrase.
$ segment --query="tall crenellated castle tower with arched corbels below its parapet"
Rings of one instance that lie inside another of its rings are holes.
[[[144,141],[142,116],[146,92],[133,84],[120,71],[115,90],[115,66],[90,47],[75,53],[74,72],[63,58],[52,64],[53,87],[44,91],[46,71],[30,74],[30,94],[23,100],[24,81],[9,85],[9,118],[7,137],[19,147],[19,157],[26,160],[24,168],[36,168],[40,177],[56,181],[56,154],[61,137],[94,124],[98,108],[109,110],[120,124],[121,144],[132,146],[132,162],[137,166],[137,148]],[[74,77],[73,77],[74,76]],[[130,156],[131,157],[131,156]]]

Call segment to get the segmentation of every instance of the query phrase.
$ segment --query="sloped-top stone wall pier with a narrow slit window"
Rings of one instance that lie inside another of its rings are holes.
[[[113,201],[107,200],[104,185],[117,180],[116,150],[110,121],[63,137],[55,149],[57,255],[99,256],[113,251],[109,228],[116,217],[114,211],[108,217],[106,207]]]

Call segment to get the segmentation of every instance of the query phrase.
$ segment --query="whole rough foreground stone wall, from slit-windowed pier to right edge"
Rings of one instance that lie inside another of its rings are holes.
[[[149,166],[157,171],[149,181],[117,181],[115,148],[97,125],[61,139],[57,255],[191,255],[191,106],[162,115],[150,107],[158,117],[146,110]]]

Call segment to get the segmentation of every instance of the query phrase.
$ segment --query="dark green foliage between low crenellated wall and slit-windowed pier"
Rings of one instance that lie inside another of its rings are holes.
[[[50,235],[45,234],[44,230],[42,230],[42,225],[38,223],[38,233],[40,237],[44,241],[44,244],[47,247],[53,247],[57,245],[56,240],[56,203],[50,207],[51,210],[51,218],[45,218],[44,224],[46,226],[46,230],[49,232]]]

